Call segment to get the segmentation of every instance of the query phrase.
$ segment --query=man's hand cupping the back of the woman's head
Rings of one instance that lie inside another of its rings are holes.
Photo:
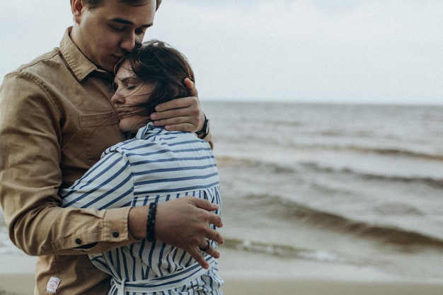
[[[205,124],[205,114],[200,109],[200,100],[194,83],[186,78],[185,84],[190,96],[161,103],[156,106],[156,112],[151,114],[151,120],[156,126],[164,126],[169,131],[197,132]]]

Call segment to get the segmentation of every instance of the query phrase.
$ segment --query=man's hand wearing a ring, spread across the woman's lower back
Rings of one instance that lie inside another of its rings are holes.
[[[218,208],[217,205],[196,197],[183,197],[161,203],[156,212],[156,238],[185,250],[207,269],[209,265],[200,249],[207,247],[207,240],[224,243],[222,235],[209,227],[209,224],[223,226],[220,216],[210,212]],[[205,252],[214,258],[220,257],[212,246]]]

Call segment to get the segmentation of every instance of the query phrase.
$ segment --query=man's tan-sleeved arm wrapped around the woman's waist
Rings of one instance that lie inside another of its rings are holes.
[[[64,110],[33,79],[11,74],[0,87],[0,201],[11,241],[29,255],[79,254],[93,243],[109,250],[134,241],[127,231],[130,208],[59,207],[68,140],[62,137]]]

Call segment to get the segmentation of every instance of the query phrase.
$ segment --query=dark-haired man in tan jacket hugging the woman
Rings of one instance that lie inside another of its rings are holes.
[[[111,71],[142,42],[160,2],[71,0],[74,26],[60,47],[5,76],[0,88],[0,200],[13,243],[39,256],[35,294],[106,294],[108,276],[84,254],[146,238],[147,207],[62,209],[57,191],[124,139],[109,100]],[[157,111],[152,117],[157,125],[207,135],[207,120],[195,97],[159,105]],[[155,237],[183,248],[207,267],[198,248],[206,247],[206,238],[223,243],[208,226],[222,226],[209,212],[215,209],[192,197],[159,204]],[[207,253],[219,257],[212,248]]]

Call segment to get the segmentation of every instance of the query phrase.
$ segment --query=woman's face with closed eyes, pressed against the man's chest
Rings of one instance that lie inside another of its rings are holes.
[[[137,115],[140,108],[134,106],[146,103],[154,86],[151,83],[140,82],[127,62],[118,69],[114,83],[115,93],[111,102],[120,118],[119,127],[122,132],[135,132],[149,122],[149,116]]]

